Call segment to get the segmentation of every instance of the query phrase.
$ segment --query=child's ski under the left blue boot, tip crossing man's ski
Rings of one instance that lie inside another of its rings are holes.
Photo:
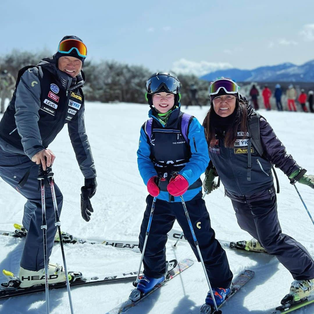
[[[139,302],[141,302],[142,300],[144,300],[146,297],[148,297],[149,295],[151,295],[153,292],[155,292],[157,289],[159,289],[160,287],[162,287],[164,284],[166,284],[167,282],[169,282],[171,279],[173,279],[174,277],[176,277],[177,275],[179,275],[180,273],[182,273],[184,270],[186,270],[187,268],[189,268],[190,266],[192,266],[194,264],[194,262],[190,259],[185,259],[181,262],[179,262],[176,266],[176,268],[172,269],[172,270],[168,270],[168,274],[166,276],[165,281],[163,281],[162,283],[158,284],[157,286],[154,287],[153,290],[149,291],[148,293],[141,295],[140,299],[136,300],[136,301],[131,301],[130,299],[128,299],[127,301],[119,304],[118,306],[116,306],[114,309],[112,309],[111,311],[107,312],[106,314],[119,314],[119,313],[123,313],[125,311],[127,311],[129,308],[136,306]]]

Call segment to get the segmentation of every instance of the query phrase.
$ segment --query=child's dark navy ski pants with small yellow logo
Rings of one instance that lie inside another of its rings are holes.
[[[147,207],[139,235],[139,248],[141,251],[143,249],[153,197],[149,195],[146,198],[146,203]],[[185,203],[210,283],[213,287],[228,288],[233,275],[229,268],[226,253],[215,239],[215,232],[211,228],[204,200],[196,196]],[[184,235],[187,241],[189,241],[195,256],[200,261],[182,203],[169,203],[157,199],[143,258],[144,273],[149,277],[160,278],[165,274],[167,233],[171,230],[175,219],[177,219],[184,231]]]

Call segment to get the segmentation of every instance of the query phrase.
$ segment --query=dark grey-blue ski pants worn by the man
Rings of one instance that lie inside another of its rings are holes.
[[[31,168],[30,176],[23,187],[18,187],[19,181]],[[24,205],[23,226],[28,231],[20,265],[24,269],[37,271],[45,267],[44,264],[44,240],[41,230],[42,210],[41,192],[39,186],[38,165],[35,165],[27,156],[13,154],[0,147],[0,176],[15,190],[27,198]],[[56,199],[59,214],[62,208],[62,193],[55,184]],[[55,212],[51,197],[50,187],[45,188],[46,196],[46,220],[47,220],[47,252],[51,255],[54,237],[57,232],[55,227]],[[2,194],[2,197],[4,195]],[[8,209],[9,210],[9,209]]]

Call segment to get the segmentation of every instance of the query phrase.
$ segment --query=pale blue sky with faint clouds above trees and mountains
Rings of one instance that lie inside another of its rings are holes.
[[[55,52],[63,35],[77,35],[89,59],[152,71],[169,70],[178,60],[251,69],[314,59],[310,0],[2,0],[0,12],[0,55],[14,48]]]

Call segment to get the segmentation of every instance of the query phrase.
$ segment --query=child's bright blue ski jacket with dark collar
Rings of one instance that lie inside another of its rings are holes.
[[[179,141],[176,140],[176,137],[179,138],[177,133],[167,132],[162,135],[162,129],[164,129],[165,132],[166,130],[176,128],[180,130],[180,126],[178,126],[177,124],[181,114],[182,113],[180,112],[179,104],[179,107],[171,112],[171,115],[169,116],[169,119],[164,126],[159,122],[158,118],[154,116],[153,110],[149,111],[149,117],[153,118],[154,126],[159,128],[160,131],[156,132],[156,135],[152,134],[154,139],[151,140],[145,132],[145,123],[141,127],[137,156],[138,170],[145,185],[147,185],[148,180],[152,176],[157,176],[157,170],[162,170],[162,168],[158,168],[160,167],[161,163],[162,165],[168,165],[173,163],[174,166],[179,166],[179,168],[177,168],[180,169],[178,173],[187,179],[189,186],[192,186],[193,183],[198,180],[200,181],[199,177],[205,171],[210,160],[203,126],[198,122],[195,117],[192,117],[187,132],[188,143],[186,143],[184,140],[181,140],[181,134]],[[161,138],[162,143],[159,143],[161,141]],[[181,145],[187,145],[187,149],[183,150],[185,152],[184,158],[178,160],[176,159],[176,157],[179,156],[178,151],[180,150],[180,154],[182,154],[182,149],[180,149]],[[154,147],[152,148],[152,146]],[[164,160],[156,159],[156,156],[161,155],[163,156]],[[158,161],[156,162],[156,160]],[[183,160],[186,161],[186,163],[182,163]],[[180,167],[180,165],[183,166]],[[167,173],[167,171],[165,171],[165,173]],[[166,178],[167,182],[169,182],[170,177],[167,177],[167,174],[165,174],[164,177]],[[187,192],[183,194],[183,198],[185,201],[191,200],[202,191],[201,184],[195,184],[195,186],[196,188],[189,188]],[[168,202],[173,200],[174,202],[181,202],[180,197],[174,197],[171,200],[167,191],[163,191],[161,188],[160,190],[160,194],[157,197],[158,199]]]

